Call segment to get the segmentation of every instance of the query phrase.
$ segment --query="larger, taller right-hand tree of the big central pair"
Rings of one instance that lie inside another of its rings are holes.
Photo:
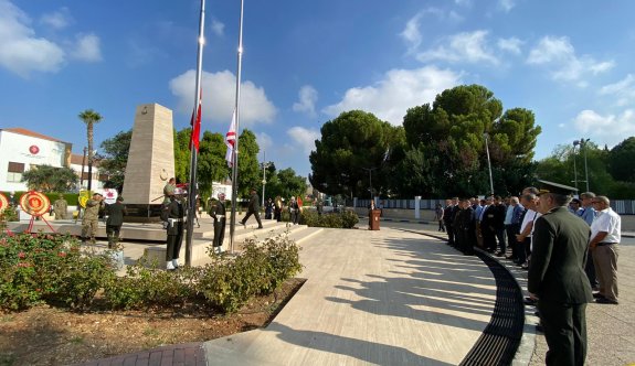
[[[485,133],[497,193],[517,192],[533,177],[531,159],[541,131],[533,114],[522,108],[502,114],[501,101],[483,86],[444,90],[432,106],[409,109],[403,127],[408,149],[417,150],[406,153],[400,166],[405,180],[415,180],[401,183],[403,194],[416,186],[421,195],[487,193]],[[417,169],[423,172],[414,173]]]

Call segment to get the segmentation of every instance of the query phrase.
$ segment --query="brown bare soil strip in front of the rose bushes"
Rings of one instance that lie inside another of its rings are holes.
[[[229,315],[195,305],[84,313],[41,305],[0,314],[0,365],[70,365],[250,331],[268,324],[303,283],[290,279],[275,293],[255,298]]]

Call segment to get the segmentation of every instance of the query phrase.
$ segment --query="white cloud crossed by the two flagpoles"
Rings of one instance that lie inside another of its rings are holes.
[[[194,108],[194,85],[197,72],[187,71],[170,80],[170,90],[177,97],[179,110],[184,114]],[[203,72],[203,120],[230,126],[235,104],[236,77],[230,71]],[[277,110],[267,99],[264,88],[252,82],[241,83],[241,127],[273,122]],[[226,127],[225,127],[226,128]]]

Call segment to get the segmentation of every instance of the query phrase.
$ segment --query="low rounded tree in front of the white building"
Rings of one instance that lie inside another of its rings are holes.
[[[38,165],[22,174],[29,190],[40,192],[68,192],[75,190],[77,175],[71,168]]]

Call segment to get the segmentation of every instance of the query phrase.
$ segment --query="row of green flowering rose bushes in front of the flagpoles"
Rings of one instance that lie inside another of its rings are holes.
[[[82,250],[63,235],[1,235],[0,309],[47,302],[86,310],[99,292],[112,309],[197,303],[226,313],[272,293],[301,270],[299,247],[286,236],[260,246],[248,241],[236,257],[210,252],[212,263],[204,267],[163,271],[139,261],[124,277],[116,276],[110,254]]]

